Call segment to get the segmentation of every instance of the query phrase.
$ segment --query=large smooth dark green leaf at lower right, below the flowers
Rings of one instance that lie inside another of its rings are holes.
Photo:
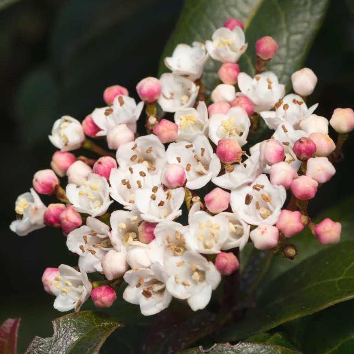
[[[287,321],[354,298],[354,241],[341,242],[309,257],[269,284],[239,326],[222,333],[237,341]]]

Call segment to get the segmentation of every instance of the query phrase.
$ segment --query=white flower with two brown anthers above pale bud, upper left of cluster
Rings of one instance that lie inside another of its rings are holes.
[[[114,98],[112,107],[96,108],[92,120],[101,129],[96,136],[107,135],[107,131],[119,124],[125,124],[132,132],[136,132],[136,122],[139,119],[144,102],[136,104],[135,99],[119,95]]]

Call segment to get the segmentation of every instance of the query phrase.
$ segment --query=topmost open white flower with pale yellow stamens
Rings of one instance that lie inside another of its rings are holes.
[[[206,41],[205,46],[210,56],[223,63],[235,63],[246,51],[245,33],[236,26],[233,30],[222,27],[212,35],[212,41]]]

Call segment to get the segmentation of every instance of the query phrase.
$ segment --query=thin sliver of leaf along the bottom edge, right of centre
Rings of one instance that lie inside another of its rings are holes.
[[[179,352],[178,354],[299,354],[295,350],[287,349],[284,347],[245,342],[238,343],[232,346],[228,343],[226,344],[214,344],[210,349],[204,350],[201,347],[192,348]]]

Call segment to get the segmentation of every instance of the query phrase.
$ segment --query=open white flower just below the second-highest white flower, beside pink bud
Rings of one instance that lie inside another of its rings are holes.
[[[192,107],[198,95],[199,86],[192,80],[175,74],[165,73],[160,77],[162,85],[158,103],[164,112]]]

